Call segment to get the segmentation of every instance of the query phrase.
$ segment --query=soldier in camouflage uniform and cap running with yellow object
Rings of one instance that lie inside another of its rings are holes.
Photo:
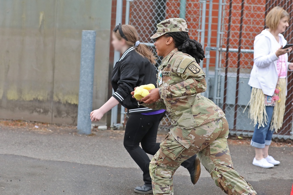
[[[152,89],[139,104],[166,109],[174,128],[149,166],[153,193],[173,195],[175,171],[183,161],[197,154],[226,194],[256,194],[233,168],[225,114],[200,94],[206,90],[205,73],[197,64],[205,57],[201,44],[189,39],[188,27],[181,18],[164,20],[157,28],[151,39],[156,39],[158,55],[164,56],[157,75],[158,88]]]

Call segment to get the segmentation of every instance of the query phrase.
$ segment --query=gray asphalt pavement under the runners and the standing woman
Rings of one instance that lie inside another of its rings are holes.
[[[1,124],[0,124],[1,125]],[[293,183],[293,148],[272,147],[281,161],[272,169],[251,164],[249,145],[230,145],[235,169],[258,194],[289,195]],[[75,130],[0,128],[0,194],[101,194],[135,195],[143,184],[142,171],[123,147],[123,132],[95,132],[79,136]],[[221,195],[202,167],[192,185],[188,172],[179,168],[175,195]]]

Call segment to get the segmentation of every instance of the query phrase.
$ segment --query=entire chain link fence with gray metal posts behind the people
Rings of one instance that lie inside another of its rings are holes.
[[[200,64],[207,73],[208,88],[204,95],[226,113],[231,134],[251,136],[254,127],[248,109],[244,109],[250,100],[248,80],[253,66],[253,41],[265,28],[266,13],[275,6],[284,7],[293,16],[293,0],[133,0],[129,6],[129,23],[138,30],[140,41],[156,54],[149,39],[156,32],[156,24],[166,18],[185,18],[190,38],[202,43],[206,51],[206,58]],[[293,42],[292,24],[290,18],[290,27],[284,33],[290,43]],[[161,60],[158,57],[156,67]],[[290,98],[293,77],[288,74],[284,124],[274,137],[293,139]],[[160,130],[169,130],[170,121],[166,115]]]

